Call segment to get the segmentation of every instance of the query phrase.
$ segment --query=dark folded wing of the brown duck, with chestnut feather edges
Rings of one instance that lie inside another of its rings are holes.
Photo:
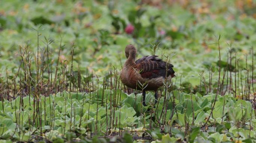
[[[143,78],[152,79],[157,77],[174,77],[173,65],[162,61],[162,59],[157,58],[157,55],[144,56],[137,61],[136,67],[140,71],[140,75]],[[167,73],[166,73],[167,72]]]

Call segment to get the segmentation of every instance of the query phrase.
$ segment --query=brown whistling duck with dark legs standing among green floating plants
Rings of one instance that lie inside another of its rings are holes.
[[[145,96],[147,90],[155,91],[155,103],[158,100],[157,89],[164,85],[165,77],[170,80],[174,77],[173,65],[156,58],[157,55],[144,56],[136,60],[137,50],[134,45],[127,45],[125,56],[127,60],[121,71],[121,81],[124,85],[132,89],[141,89],[141,84],[146,83],[143,87],[143,105],[146,106]],[[136,60],[136,61],[135,61]],[[167,73],[166,73],[167,72]]]

